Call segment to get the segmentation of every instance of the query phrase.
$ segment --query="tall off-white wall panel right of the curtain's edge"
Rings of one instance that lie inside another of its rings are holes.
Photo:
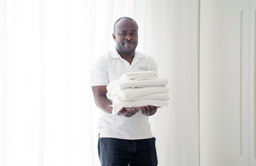
[[[249,0],[200,1],[200,165],[248,166]]]

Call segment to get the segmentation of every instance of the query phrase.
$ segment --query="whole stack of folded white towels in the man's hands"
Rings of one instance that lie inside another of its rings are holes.
[[[169,100],[167,79],[160,79],[154,71],[129,72],[107,86],[112,100],[112,116],[123,108],[153,105],[166,107]]]

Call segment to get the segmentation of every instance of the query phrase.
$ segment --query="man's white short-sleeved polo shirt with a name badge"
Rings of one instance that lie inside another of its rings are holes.
[[[136,50],[132,64],[123,59],[116,49],[110,50],[95,62],[92,68],[92,86],[108,85],[131,71],[157,71],[157,65],[152,57]],[[101,138],[137,140],[153,137],[148,116],[144,116],[141,111],[130,118],[124,116],[112,118],[111,113],[101,111],[99,131]]]

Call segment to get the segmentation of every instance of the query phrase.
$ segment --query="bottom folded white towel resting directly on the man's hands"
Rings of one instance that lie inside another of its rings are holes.
[[[112,116],[116,116],[117,113],[124,107],[124,108],[135,108],[135,107],[142,107],[146,105],[153,105],[156,107],[167,107],[168,100],[135,100],[133,102],[123,102],[123,101],[115,101],[113,102],[111,107],[112,109]]]

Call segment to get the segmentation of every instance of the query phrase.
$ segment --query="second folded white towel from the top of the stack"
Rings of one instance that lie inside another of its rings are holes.
[[[112,89],[127,89],[127,88],[143,88],[150,86],[166,86],[168,83],[167,79],[157,78],[155,80],[114,80],[107,86],[108,91]]]

